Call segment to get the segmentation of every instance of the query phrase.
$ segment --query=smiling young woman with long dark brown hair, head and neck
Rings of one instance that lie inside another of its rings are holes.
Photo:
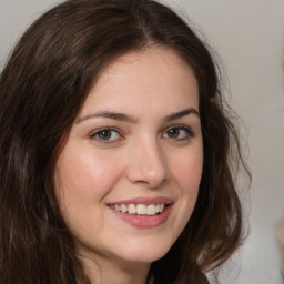
[[[242,242],[205,44],[151,0],[69,0],[0,79],[0,282],[207,283]]]

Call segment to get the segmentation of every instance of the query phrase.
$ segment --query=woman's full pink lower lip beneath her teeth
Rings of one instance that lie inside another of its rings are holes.
[[[110,207],[111,209],[111,207]],[[128,213],[122,213],[111,209],[111,211],[124,222],[136,227],[156,227],[162,225],[169,217],[172,205],[168,205],[162,213],[153,216],[138,216]]]

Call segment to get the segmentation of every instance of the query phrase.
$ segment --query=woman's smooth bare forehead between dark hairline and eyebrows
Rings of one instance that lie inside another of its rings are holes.
[[[193,70],[175,52],[150,48],[129,52],[108,65],[83,109],[125,108],[128,103],[132,109],[164,103],[182,109],[185,101],[197,108],[199,88]]]

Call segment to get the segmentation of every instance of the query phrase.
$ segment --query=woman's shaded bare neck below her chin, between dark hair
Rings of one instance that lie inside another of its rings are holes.
[[[123,262],[113,258],[81,257],[84,273],[91,284],[146,284],[149,263]]]

